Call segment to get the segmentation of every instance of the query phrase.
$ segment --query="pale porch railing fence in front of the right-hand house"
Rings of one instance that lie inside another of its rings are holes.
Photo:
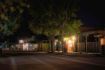
[[[100,52],[100,44],[98,42],[81,42],[77,45],[78,52],[92,52],[99,53]]]

